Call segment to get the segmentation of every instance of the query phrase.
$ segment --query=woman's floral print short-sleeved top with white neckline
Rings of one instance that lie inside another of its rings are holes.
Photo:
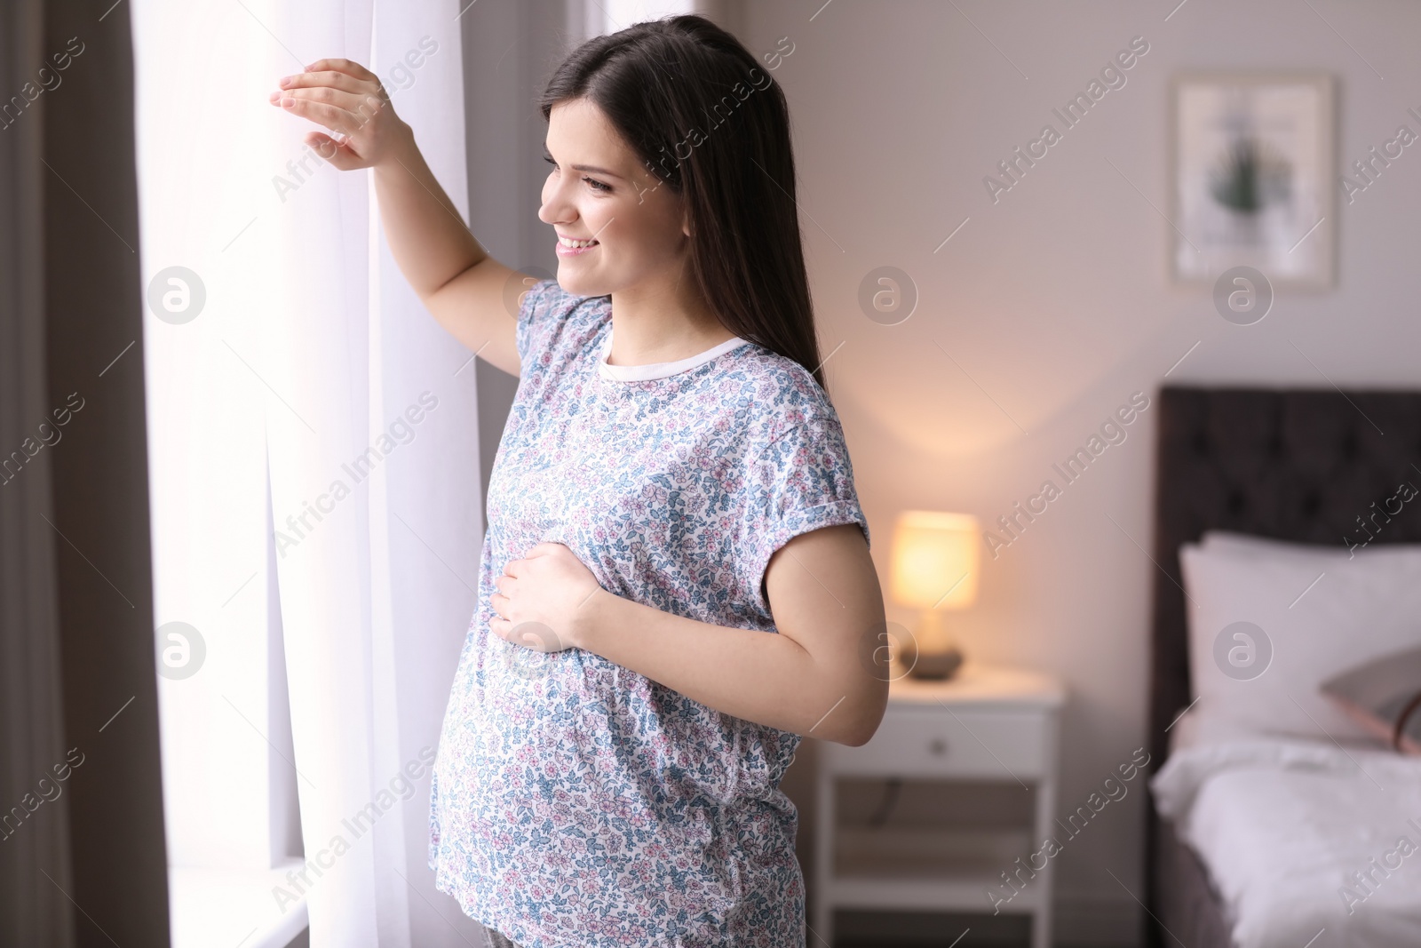
[[[610,334],[608,296],[541,280],[523,297],[429,867],[524,948],[801,947],[799,814],[779,789],[800,736],[489,630],[495,577],[544,540],[615,596],[777,634],[770,556],[833,524],[868,539],[838,416],[804,367],[745,340],[612,367]]]

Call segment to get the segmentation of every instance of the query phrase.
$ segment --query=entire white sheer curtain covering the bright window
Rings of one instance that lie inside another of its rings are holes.
[[[477,415],[369,172],[321,162],[267,95],[323,57],[367,65],[463,210],[460,7],[134,4],[173,897],[257,873],[249,907],[213,901],[263,932],[296,904],[313,945],[477,942],[425,864],[483,534]]]

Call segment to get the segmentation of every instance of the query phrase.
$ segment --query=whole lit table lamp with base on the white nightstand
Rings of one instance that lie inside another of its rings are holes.
[[[966,513],[905,510],[892,540],[891,594],[921,610],[912,637],[898,650],[914,678],[951,678],[962,652],[946,630],[944,613],[976,600],[982,533]]]

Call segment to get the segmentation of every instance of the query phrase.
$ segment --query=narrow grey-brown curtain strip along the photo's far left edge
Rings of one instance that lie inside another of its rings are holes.
[[[64,760],[58,537],[43,519],[51,513],[48,455],[37,429],[48,411],[36,186],[44,165],[41,126],[24,122],[41,14],[38,0],[0,4],[0,945],[70,948],[72,908],[58,888],[70,885],[68,802],[55,797],[60,785],[40,783]]]

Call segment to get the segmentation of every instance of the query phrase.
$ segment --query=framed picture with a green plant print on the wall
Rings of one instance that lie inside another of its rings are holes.
[[[1171,80],[1172,274],[1255,267],[1275,287],[1333,284],[1333,77]]]

